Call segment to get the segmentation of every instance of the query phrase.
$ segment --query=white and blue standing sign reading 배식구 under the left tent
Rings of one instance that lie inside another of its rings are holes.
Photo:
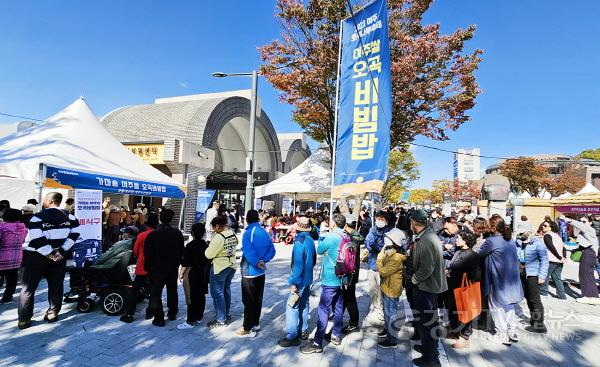
[[[75,217],[80,236],[73,247],[73,260],[76,267],[82,267],[102,254],[102,191],[75,190]]]

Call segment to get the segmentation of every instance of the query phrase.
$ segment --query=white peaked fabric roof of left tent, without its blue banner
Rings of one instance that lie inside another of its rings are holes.
[[[0,139],[0,178],[39,181],[39,165],[182,186],[136,157],[80,98],[47,122]]]

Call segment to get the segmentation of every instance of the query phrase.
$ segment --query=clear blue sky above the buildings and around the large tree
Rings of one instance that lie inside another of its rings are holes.
[[[97,115],[156,97],[244,89],[256,47],[279,35],[272,0],[15,1],[0,5],[0,112],[45,118],[86,97]],[[577,154],[600,147],[600,2],[438,0],[425,17],[442,30],[476,24],[485,51],[473,120],[450,141],[418,143],[482,154]],[[291,108],[261,81],[280,132]],[[14,122],[0,116],[2,123]],[[452,155],[416,147],[421,179],[452,175]],[[483,159],[482,167],[495,163]]]

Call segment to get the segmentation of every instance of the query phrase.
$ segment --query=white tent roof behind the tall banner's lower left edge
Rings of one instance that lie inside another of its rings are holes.
[[[329,153],[318,149],[298,167],[280,178],[255,188],[256,197],[282,194],[298,200],[319,201],[329,197],[331,169]]]

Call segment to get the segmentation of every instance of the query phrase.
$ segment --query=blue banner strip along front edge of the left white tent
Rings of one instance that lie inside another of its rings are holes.
[[[177,199],[185,197],[184,186],[107,176],[52,166],[45,166],[45,168],[45,187],[102,190],[103,192],[119,194]]]

